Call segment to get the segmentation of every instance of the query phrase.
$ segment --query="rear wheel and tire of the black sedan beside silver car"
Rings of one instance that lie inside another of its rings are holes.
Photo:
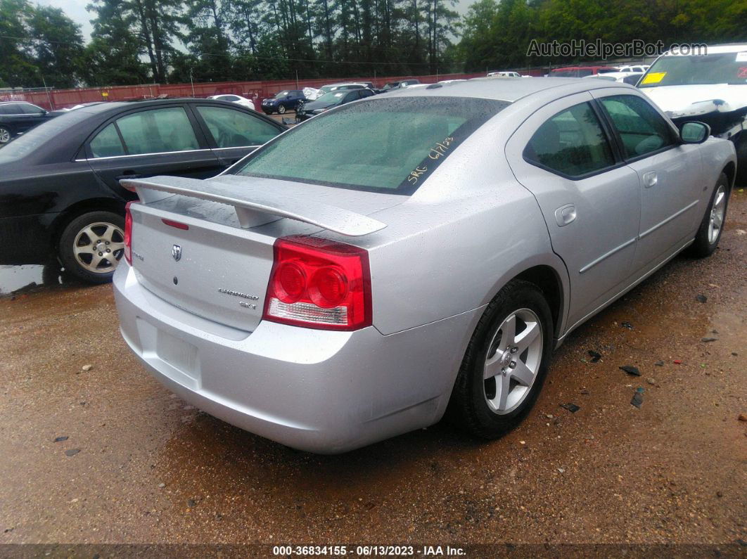
[[[64,228],[58,245],[65,270],[90,284],[111,281],[124,255],[124,231],[125,218],[118,213],[93,211],[76,217]]]

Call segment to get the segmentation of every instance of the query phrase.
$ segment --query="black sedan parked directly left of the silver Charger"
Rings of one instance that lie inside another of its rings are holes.
[[[112,102],[45,122],[0,149],[0,264],[109,281],[124,252],[121,178],[217,175],[285,126],[208,99]]]

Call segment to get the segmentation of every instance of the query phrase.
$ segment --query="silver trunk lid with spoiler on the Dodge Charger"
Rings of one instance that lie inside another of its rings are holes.
[[[145,202],[131,205],[140,284],[176,307],[244,331],[261,320],[277,238],[314,234],[326,223],[356,235],[367,226],[377,230],[385,225],[366,216],[407,199],[232,175],[157,177],[126,186]],[[240,210],[249,217],[240,219]]]

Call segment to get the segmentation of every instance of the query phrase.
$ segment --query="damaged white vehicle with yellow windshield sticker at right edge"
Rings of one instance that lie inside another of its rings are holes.
[[[665,52],[638,87],[676,124],[705,122],[713,136],[734,142],[737,181],[747,180],[747,43]]]

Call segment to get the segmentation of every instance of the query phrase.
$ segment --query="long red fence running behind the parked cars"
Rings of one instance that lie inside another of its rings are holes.
[[[539,69],[519,70],[527,75],[540,75]],[[282,90],[303,89],[303,87],[321,87],[340,81],[371,81],[376,87],[382,87],[389,81],[417,79],[423,84],[435,84],[439,80],[460,78],[480,78],[484,74],[439,74],[439,75],[401,75],[368,78],[326,78],[313,80],[284,81],[223,81],[199,84],[151,84],[125,85],[113,87],[83,87],[75,90],[49,91],[9,91],[0,92],[0,101],[28,101],[49,110],[72,107],[80,103],[94,101],[132,101],[134,99],[154,99],[157,97],[208,97],[221,93],[234,93],[249,99],[263,99]]]

